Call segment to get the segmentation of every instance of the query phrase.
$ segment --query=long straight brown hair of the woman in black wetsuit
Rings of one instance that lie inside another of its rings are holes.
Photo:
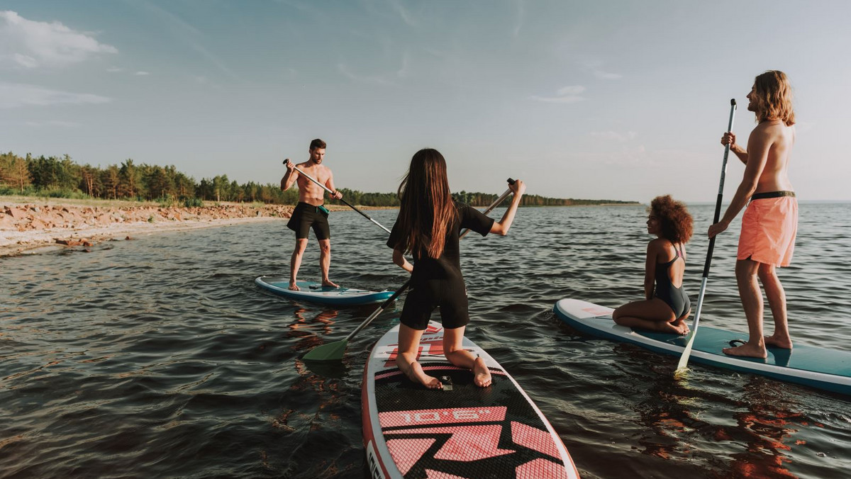
[[[422,251],[430,258],[440,258],[446,232],[457,214],[440,151],[424,148],[414,154],[398,195],[401,204],[396,221],[408,233],[400,246],[405,253]]]

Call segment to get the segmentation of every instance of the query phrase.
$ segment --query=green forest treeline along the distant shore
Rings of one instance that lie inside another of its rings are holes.
[[[351,204],[376,207],[398,206],[396,192],[364,193],[340,188],[343,198]],[[281,191],[277,183],[261,185],[254,181],[240,185],[222,174],[197,181],[172,166],[136,164],[127,159],[106,168],[75,163],[70,156],[20,157],[13,152],[0,153],[0,195],[22,195],[55,198],[101,198],[153,201],[164,204],[201,206],[203,201],[264,202],[295,204],[296,188]],[[472,206],[487,206],[497,194],[460,191],[456,200]],[[338,203],[328,200],[328,203]],[[628,204],[614,200],[581,200],[524,195],[523,206],[570,206],[603,203]]]

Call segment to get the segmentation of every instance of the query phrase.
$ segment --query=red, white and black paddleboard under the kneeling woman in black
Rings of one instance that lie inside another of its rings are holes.
[[[493,384],[443,356],[443,327],[430,322],[419,361],[443,390],[412,382],[396,367],[399,327],[388,331],[363,370],[363,445],[374,478],[579,477],[568,450],[517,381],[482,348]]]

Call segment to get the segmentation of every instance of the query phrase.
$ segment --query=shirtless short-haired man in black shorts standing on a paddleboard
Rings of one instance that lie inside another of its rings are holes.
[[[334,174],[331,173],[331,168],[322,164],[325,146],[325,142],[318,138],[311,141],[310,159],[297,165],[288,161],[287,173],[281,179],[281,190],[288,190],[293,183],[299,184],[299,204],[295,205],[293,215],[287,223],[287,227],[295,231],[295,249],[293,257],[289,260],[289,288],[293,291],[299,291],[295,277],[299,274],[301,257],[307,248],[307,232],[311,227],[321,248],[319,265],[322,267],[323,286],[339,288],[328,279],[328,268],[331,266],[331,231],[328,228],[328,210],[323,207],[325,190],[295,170],[298,167],[306,175],[325,185],[328,190],[334,191],[331,197],[341,199],[343,194],[334,188]]]

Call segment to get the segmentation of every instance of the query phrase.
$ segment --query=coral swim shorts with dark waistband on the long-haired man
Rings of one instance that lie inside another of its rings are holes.
[[[788,266],[795,251],[797,198],[791,191],[757,193],[742,217],[739,254],[767,265]]]

